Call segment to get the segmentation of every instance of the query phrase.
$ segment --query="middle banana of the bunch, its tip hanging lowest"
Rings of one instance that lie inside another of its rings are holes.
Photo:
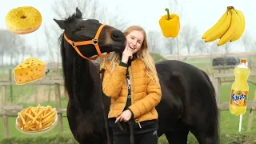
[[[236,31],[238,30],[238,26],[240,24],[239,16],[233,9],[231,9],[230,11],[231,11],[231,15],[232,15],[230,28],[226,31],[226,33],[218,41],[218,43],[217,43],[218,46],[222,46],[222,45],[226,44],[226,42],[230,42],[230,39],[234,37],[234,35],[236,34]]]

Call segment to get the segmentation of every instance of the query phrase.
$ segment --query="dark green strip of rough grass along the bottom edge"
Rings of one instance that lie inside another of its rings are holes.
[[[50,137],[31,138],[4,138],[1,144],[78,144],[73,137],[67,135],[52,135]],[[194,138],[190,138],[189,144],[198,144]],[[221,144],[254,144],[256,135],[247,134],[222,134]],[[158,144],[167,144],[166,138],[160,138]]]

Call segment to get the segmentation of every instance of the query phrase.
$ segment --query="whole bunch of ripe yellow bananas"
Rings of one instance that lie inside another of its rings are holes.
[[[225,14],[202,35],[202,39],[205,42],[213,42],[220,38],[217,45],[222,46],[238,40],[245,28],[246,21],[242,11],[234,9],[234,6],[228,6]]]

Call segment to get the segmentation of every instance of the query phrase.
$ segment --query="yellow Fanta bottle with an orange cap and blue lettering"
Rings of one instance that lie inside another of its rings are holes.
[[[246,65],[246,59],[241,58],[240,64],[234,67],[235,80],[231,87],[230,113],[235,115],[245,114],[248,100],[249,86],[247,78],[250,68]]]

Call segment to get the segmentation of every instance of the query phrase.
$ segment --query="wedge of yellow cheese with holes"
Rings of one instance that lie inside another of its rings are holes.
[[[45,75],[46,64],[37,58],[27,58],[14,69],[14,78],[18,85],[36,81]]]

